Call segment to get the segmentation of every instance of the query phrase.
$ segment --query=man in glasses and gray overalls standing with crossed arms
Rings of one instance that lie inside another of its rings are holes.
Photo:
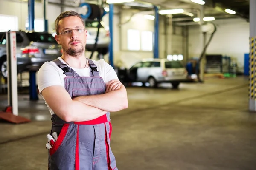
[[[109,112],[128,107],[125,87],[107,62],[85,57],[87,30],[78,13],[61,13],[55,30],[63,55],[38,71],[38,89],[52,115],[50,134],[58,133],[49,170],[117,170]]]

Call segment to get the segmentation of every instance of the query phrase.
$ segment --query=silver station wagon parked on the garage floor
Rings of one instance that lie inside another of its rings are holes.
[[[160,82],[170,82],[178,88],[180,82],[187,81],[186,68],[180,61],[168,59],[143,59],[127,71],[132,82],[148,82],[150,87],[157,87]]]

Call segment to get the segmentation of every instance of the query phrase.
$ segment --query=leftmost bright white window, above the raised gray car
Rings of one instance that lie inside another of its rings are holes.
[[[0,15],[0,31],[17,31],[19,29],[18,17],[12,15]]]

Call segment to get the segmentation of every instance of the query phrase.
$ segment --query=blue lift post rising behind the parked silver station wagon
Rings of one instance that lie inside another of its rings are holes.
[[[159,34],[159,14],[157,6],[154,6],[155,20],[154,20],[154,58],[159,58],[158,50],[158,34]]]

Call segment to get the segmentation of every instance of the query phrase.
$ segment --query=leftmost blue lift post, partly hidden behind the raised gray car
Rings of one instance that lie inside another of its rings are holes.
[[[35,0],[29,0],[29,30],[34,30],[34,20],[35,20]],[[36,71],[29,72],[29,99],[38,100],[37,85],[35,78]]]

